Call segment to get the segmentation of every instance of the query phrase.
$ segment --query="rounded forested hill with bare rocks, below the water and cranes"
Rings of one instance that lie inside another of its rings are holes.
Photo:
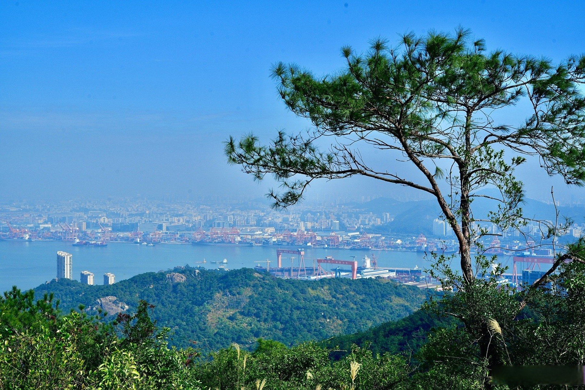
[[[287,345],[355,333],[418,309],[425,292],[381,279],[273,278],[249,268],[215,271],[178,267],[149,272],[113,285],[83,285],[59,279],[35,289],[35,296],[54,292],[61,312],[102,308],[135,312],[140,300],[155,306],[158,326],[172,330],[171,343],[197,341],[203,350],[236,342],[253,346],[256,339]]]

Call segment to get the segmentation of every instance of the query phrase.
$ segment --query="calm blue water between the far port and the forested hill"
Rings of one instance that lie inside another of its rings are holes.
[[[143,272],[168,270],[177,265],[200,265],[217,268],[210,261],[228,259],[226,268],[254,267],[269,259],[271,267],[276,266],[277,247],[250,247],[234,245],[194,246],[184,244],[158,244],[154,247],[127,243],[109,243],[105,248],[74,247],[64,241],[0,241],[0,291],[29,289],[56,277],[57,251],[64,250],[73,254],[73,278],[80,279],[80,272],[94,272],[95,283],[102,284],[105,272],[116,275],[116,281],[128,279]],[[312,267],[314,258],[333,256],[338,260],[361,260],[364,255],[375,253],[378,267],[425,268],[428,261],[423,253],[397,251],[340,250],[305,248],[305,265]],[[283,265],[290,266],[290,257],[283,254]],[[370,256],[371,257],[371,256]],[[199,261],[207,260],[200,264]],[[295,260],[297,264],[298,260]],[[266,263],[262,265],[266,266]]]

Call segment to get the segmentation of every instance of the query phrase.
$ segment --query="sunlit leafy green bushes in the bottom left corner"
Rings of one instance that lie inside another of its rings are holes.
[[[197,389],[190,370],[198,351],[177,351],[157,332],[146,302],[122,322],[119,339],[102,317],[71,311],[47,316],[33,291],[0,302],[0,387],[4,389]],[[26,299],[24,299],[26,298]],[[54,312],[52,312],[54,313]],[[6,321],[4,320],[6,318]],[[31,326],[32,325],[32,326]]]

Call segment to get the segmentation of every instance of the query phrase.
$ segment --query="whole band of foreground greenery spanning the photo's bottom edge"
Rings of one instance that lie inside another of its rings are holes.
[[[437,257],[443,280],[453,287],[464,283],[442,260]],[[496,288],[497,274],[477,278],[466,290],[445,294],[410,317],[353,335],[362,346],[351,345],[335,360],[322,344],[287,347],[266,339],[257,340],[253,352],[233,343],[204,356],[192,348],[168,348],[168,328],[156,327],[146,302],[139,302],[136,313],[119,316],[116,334],[103,316],[72,311],[53,318],[30,311],[36,308],[32,292],[27,299],[15,294],[17,299],[2,301],[11,325],[0,321],[9,329],[0,338],[0,387],[486,389],[493,364],[585,364],[585,264],[563,263],[549,287],[521,294]],[[236,279],[247,280],[246,273]],[[19,309],[16,302],[22,303]],[[433,310],[459,318],[433,317]],[[390,341],[371,347],[367,338],[377,341],[380,333]],[[485,341],[484,334],[489,335]],[[411,349],[419,338],[426,342]],[[352,337],[329,342],[335,340]],[[402,348],[401,353],[378,352],[387,345]]]

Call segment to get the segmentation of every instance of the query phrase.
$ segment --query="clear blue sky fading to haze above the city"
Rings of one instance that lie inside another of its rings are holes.
[[[333,73],[347,44],[458,25],[488,49],[558,61],[585,52],[584,11],[582,1],[3,1],[0,198],[260,196],[269,184],[228,166],[222,141],[307,127],[278,98],[271,64]],[[522,175],[529,196],[549,192],[531,169]],[[394,191],[358,180],[309,195]]]

